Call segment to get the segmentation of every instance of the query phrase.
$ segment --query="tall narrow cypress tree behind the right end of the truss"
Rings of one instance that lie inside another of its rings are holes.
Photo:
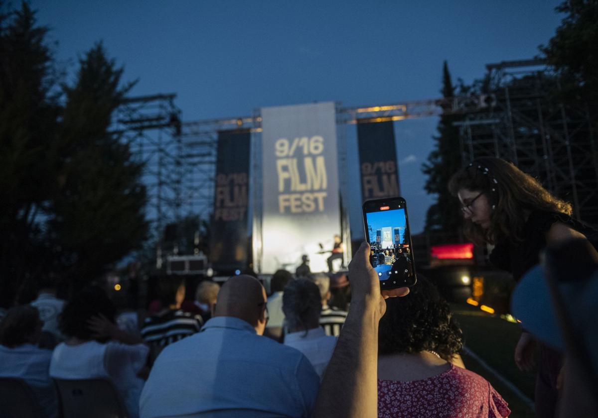
[[[443,65],[443,97],[452,98],[455,88],[451,81],[447,62]],[[422,164],[422,172],[428,176],[426,192],[437,196],[436,202],[426,213],[426,232],[457,233],[460,225],[460,211],[457,199],[450,195],[450,177],[461,166],[459,128],[453,125],[459,120],[456,115],[442,115],[438,123],[438,136],[434,137],[435,147]]]

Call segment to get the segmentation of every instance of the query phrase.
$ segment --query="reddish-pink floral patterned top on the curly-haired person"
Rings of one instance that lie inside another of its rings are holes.
[[[510,413],[486,379],[454,365],[423,380],[378,380],[381,418],[502,418]]]

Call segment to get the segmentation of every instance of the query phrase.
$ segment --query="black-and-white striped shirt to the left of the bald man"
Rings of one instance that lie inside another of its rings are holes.
[[[197,333],[202,325],[201,316],[171,309],[162,315],[145,318],[141,337],[148,345],[167,346]]]

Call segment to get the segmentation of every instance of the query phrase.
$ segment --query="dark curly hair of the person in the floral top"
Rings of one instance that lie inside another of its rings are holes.
[[[449,303],[424,276],[404,297],[386,299],[380,319],[378,354],[413,354],[435,351],[450,361],[463,348],[463,333],[454,321]]]

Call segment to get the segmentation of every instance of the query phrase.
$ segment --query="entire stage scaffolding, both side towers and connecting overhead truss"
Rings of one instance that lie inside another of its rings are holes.
[[[337,124],[462,115],[462,121],[455,124],[459,125],[463,164],[480,156],[515,162],[552,193],[572,202],[578,219],[598,224],[598,151],[587,106],[560,103],[554,96],[559,90],[557,78],[541,60],[489,64],[487,70],[489,93],[377,106],[341,107],[337,103]],[[167,225],[184,216],[209,220],[219,131],[249,128],[254,133],[252,196],[259,199],[262,193],[259,110],[251,116],[182,122],[175,97],[157,94],[126,99],[113,124],[135,158],[145,164],[147,219],[156,239]],[[338,135],[340,167],[346,169],[344,131]],[[341,196],[347,199],[344,181]],[[258,212],[255,201],[253,210]],[[348,233],[347,219],[342,228]]]

